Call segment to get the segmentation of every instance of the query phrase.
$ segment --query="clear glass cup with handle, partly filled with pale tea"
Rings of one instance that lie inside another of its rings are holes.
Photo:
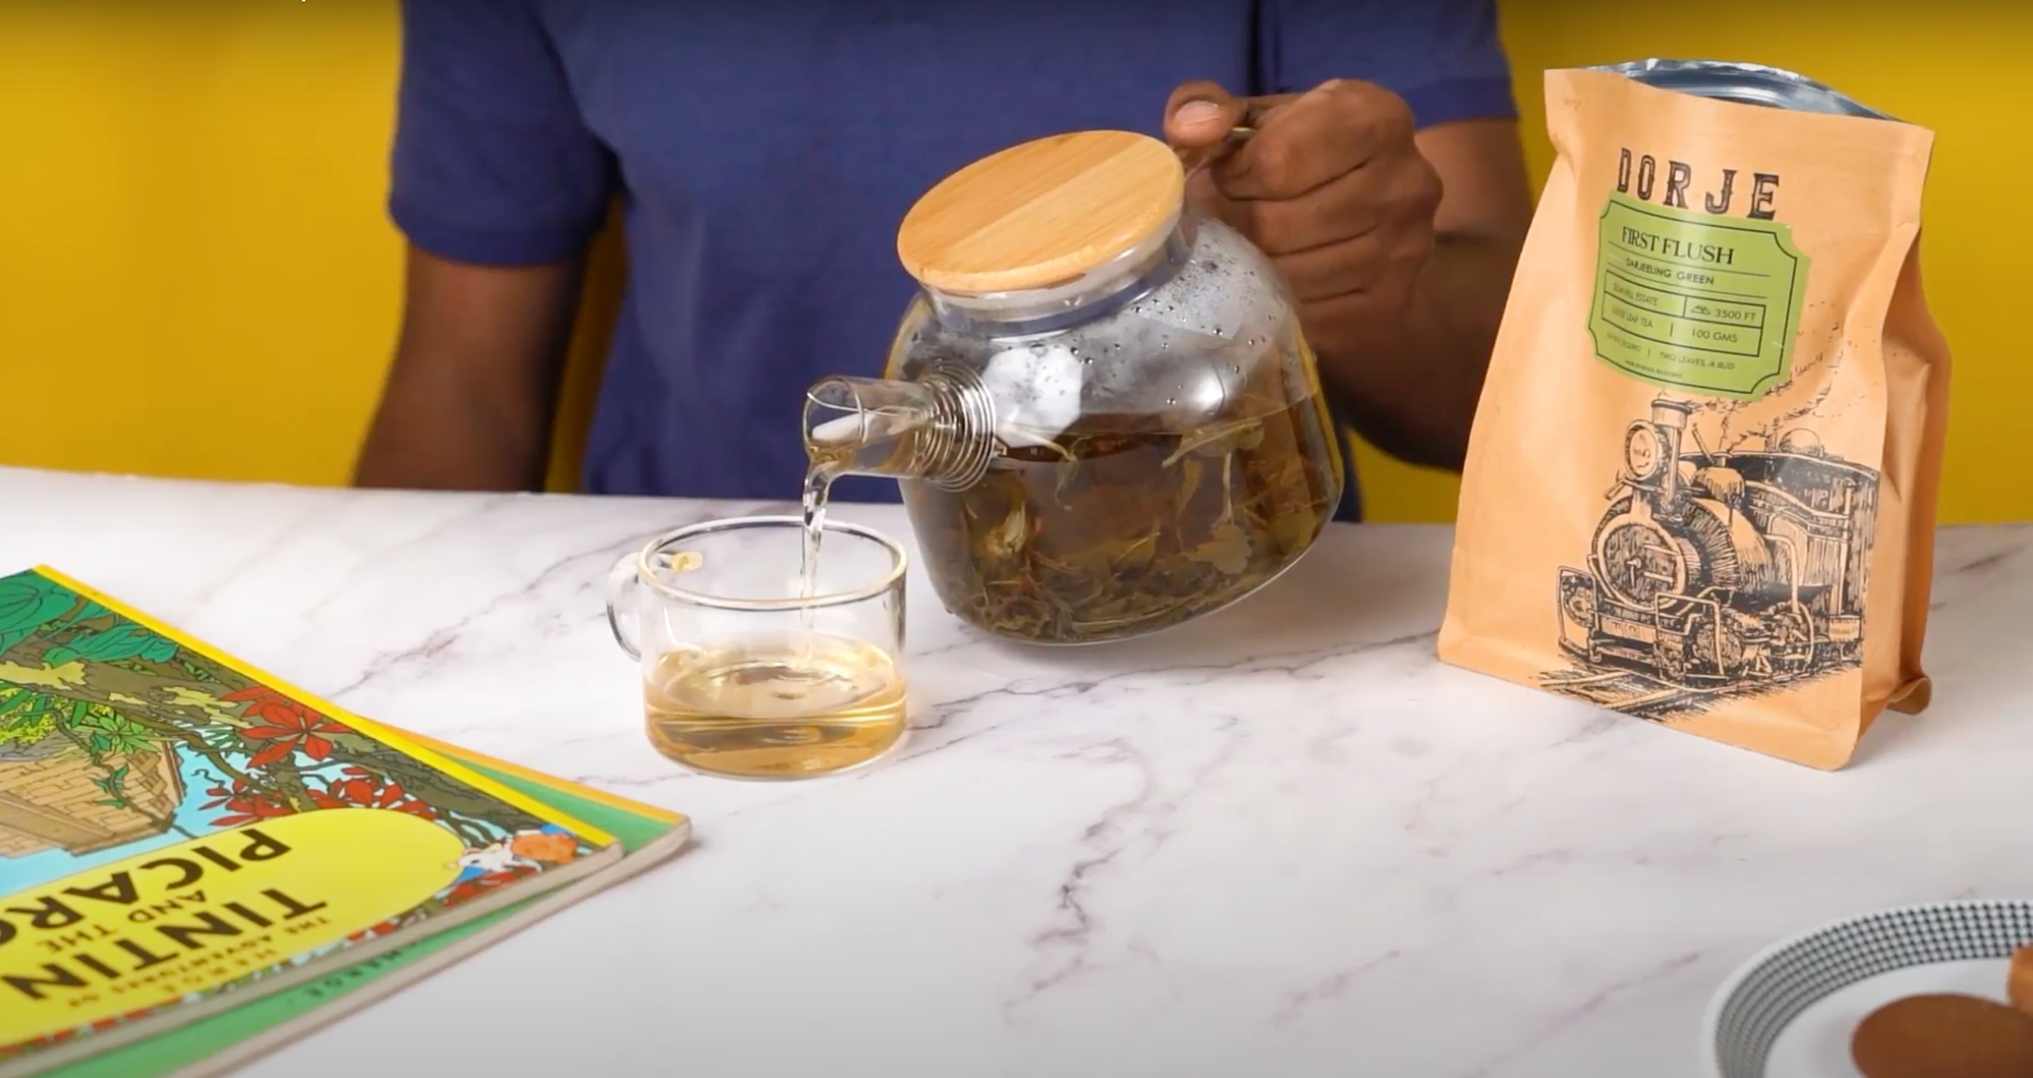
[[[651,744],[730,779],[838,775],[905,734],[905,549],[827,523],[740,517],[665,533],[608,576],[608,624],[642,665]]]

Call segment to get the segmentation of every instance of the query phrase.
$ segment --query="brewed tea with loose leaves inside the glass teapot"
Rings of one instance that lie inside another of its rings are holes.
[[[974,486],[907,484],[939,598],[994,633],[1094,643],[1256,590],[1334,517],[1340,462],[1317,397],[1240,397],[1185,433],[1088,415],[1008,447]]]

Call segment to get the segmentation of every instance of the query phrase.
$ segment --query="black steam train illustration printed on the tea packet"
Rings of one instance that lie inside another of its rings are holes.
[[[1763,450],[1683,445],[1691,405],[1657,399],[1588,567],[1559,570],[1559,645],[1596,669],[1722,690],[1858,659],[1878,474],[1805,427]]]

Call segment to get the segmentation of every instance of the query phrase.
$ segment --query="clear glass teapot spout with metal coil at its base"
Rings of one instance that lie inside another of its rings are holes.
[[[947,490],[980,482],[994,458],[994,409],[980,380],[927,372],[919,380],[829,376],[805,391],[805,456],[827,476],[927,480]]]

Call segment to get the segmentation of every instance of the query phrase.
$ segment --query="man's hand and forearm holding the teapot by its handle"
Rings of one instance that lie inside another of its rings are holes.
[[[1236,124],[1254,134],[1224,151]],[[1419,132],[1364,81],[1273,98],[1193,81],[1167,102],[1165,136],[1189,161],[1214,155],[1187,199],[1277,262],[1364,437],[1458,468],[1531,220],[1515,124]]]

